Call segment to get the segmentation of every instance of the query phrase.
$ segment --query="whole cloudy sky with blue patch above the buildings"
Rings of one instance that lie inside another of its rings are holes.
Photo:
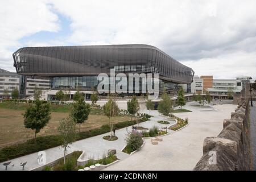
[[[256,79],[254,0],[0,0],[0,68],[20,47],[149,44],[195,75]]]

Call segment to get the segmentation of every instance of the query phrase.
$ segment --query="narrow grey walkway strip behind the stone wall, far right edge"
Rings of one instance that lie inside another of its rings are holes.
[[[250,146],[253,170],[256,170],[256,102],[250,107]]]

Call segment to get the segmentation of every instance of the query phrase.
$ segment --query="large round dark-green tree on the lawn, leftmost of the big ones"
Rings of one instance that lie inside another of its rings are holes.
[[[47,125],[49,119],[51,119],[51,112],[49,103],[36,100],[35,104],[31,104],[27,107],[27,110],[23,114],[24,126],[27,129],[35,130],[36,134]]]

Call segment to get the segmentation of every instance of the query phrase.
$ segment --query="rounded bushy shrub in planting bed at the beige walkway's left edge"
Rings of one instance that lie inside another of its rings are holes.
[[[142,134],[137,131],[132,131],[127,134],[126,147],[132,151],[138,150],[143,144]],[[132,152],[129,150],[129,152]]]

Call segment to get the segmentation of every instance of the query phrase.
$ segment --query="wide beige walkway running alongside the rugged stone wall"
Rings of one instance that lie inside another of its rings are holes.
[[[222,122],[229,119],[237,105],[216,105],[215,111],[175,113],[188,118],[189,125],[180,131],[163,137],[163,142],[152,145],[146,139],[144,147],[129,158],[104,170],[192,170],[203,155],[205,137],[216,137],[222,130]],[[186,109],[186,107],[184,107]]]

